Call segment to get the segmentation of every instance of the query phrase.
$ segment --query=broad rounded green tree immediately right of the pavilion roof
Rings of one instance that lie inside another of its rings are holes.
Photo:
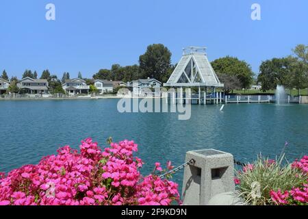
[[[251,66],[245,62],[238,60],[237,57],[222,57],[211,62],[211,66],[216,73],[235,75],[241,82],[241,88],[250,88],[253,81],[253,71]]]

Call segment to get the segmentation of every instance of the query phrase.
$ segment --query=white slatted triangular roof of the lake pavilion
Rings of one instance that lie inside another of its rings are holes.
[[[164,86],[167,87],[223,87],[211,67],[205,47],[183,49],[183,56]]]

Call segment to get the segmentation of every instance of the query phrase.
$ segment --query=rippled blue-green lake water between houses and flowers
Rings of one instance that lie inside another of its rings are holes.
[[[285,142],[292,160],[308,151],[308,105],[229,104],[192,105],[190,120],[172,113],[117,111],[117,99],[68,101],[0,101],[0,172],[37,164],[60,146],[78,148],[92,137],[100,146],[112,136],[139,145],[136,154],[148,174],[155,162],[176,166],[185,152],[218,149],[241,162],[252,162],[259,153],[275,157]],[[181,184],[183,172],[174,180]]]

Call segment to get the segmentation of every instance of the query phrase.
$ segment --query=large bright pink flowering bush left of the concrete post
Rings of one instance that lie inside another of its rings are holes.
[[[142,177],[137,144],[125,140],[102,151],[88,138],[80,153],[64,146],[5,176],[0,173],[0,205],[170,205],[179,203],[178,185],[155,171]],[[168,162],[170,168],[170,162]]]

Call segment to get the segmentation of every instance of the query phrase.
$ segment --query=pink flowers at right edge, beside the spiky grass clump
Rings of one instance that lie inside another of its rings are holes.
[[[304,156],[300,161],[296,160],[292,164],[292,168],[300,170],[303,175],[308,175],[308,156]],[[271,191],[270,196],[276,205],[308,205],[308,180],[300,188],[292,188],[292,190],[285,191],[283,194],[281,190],[278,190],[278,192]]]

